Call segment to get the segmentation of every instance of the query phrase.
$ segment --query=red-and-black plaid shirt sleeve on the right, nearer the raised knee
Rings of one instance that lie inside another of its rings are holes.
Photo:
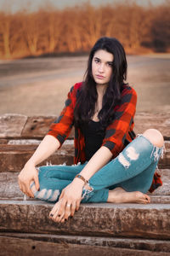
[[[122,90],[121,103],[116,106],[115,118],[105,131],[102,146],[109,148],[116,157],[125,147],[124,142],[133,131],[133,117],[136,111],[137,94],[133,88],[125,85]]]

